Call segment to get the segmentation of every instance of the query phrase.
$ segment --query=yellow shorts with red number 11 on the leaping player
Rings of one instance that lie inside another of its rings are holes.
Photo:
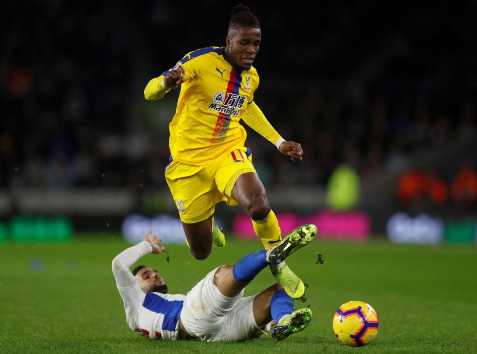
[[[232,188],[237,178],[246,172],[256,173],[256,170],[250,149],[240,147],[203,166],[186,165],[169,158],[165,180],[180,219],[191,224],[207,219],[219,202],[237,205],[231,197]]]

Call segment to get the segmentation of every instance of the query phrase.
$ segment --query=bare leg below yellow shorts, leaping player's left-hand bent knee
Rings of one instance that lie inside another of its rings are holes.
[[[212,216],[193,224],[182,222],[190,253],[195,259],[206,259],[212,251]]]

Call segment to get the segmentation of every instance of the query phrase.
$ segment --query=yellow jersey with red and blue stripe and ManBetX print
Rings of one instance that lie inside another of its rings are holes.
[[[222,55],[223,49],[195,50],[170,69],[180,65],[185,71],[177,109],[169,124],[169,148],[174,160],[205,165],[245,142],[246,132],[239,120],[253,100],[259,77],[253,67],[242,70],[230,65]],[[150,81],[146,98],[160,99],[169,90],[160,84],[170,70]]]

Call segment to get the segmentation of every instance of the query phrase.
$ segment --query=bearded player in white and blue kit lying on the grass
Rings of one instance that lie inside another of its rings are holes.
[[[214,269],[187,295],[167,293],[167,285],[152,268],[129,267],[141,257],[158,254],[161,239],[149,231],[143,242],[117,255],[112,263],[116,286],[124,301],[129,327],[151,339],[199,339],[236,342],[257,338],[273,320],[276,341],[304,330],[312,318],[309,308],[295,310],[293,299],[276,283],[262,292],[243,297],[245,286],[270,262],[282,262],[307,245],[316,234],[308,224],[293,230],[279,245],[250,253],[235,265]]]

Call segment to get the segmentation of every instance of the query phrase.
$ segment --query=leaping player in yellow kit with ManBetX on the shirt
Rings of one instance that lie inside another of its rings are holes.
[[[242,4],[231,15],[225,47],[186,54],[144,90],[147,100],[159,100],[181,85],[169,124],[165,178],[196,259],[207,258],[212,250],[213,233],[218,232],[213,215],[221,201],[243,207],[266,249],[281,241],[277,217],[252,165],[251,151],[244,146],[246,132],[240,119],[292,161],[303,156],[301,145],[285,141],[253,100],[259,83],[252,67],[261,39],[257,17]],[[303,283],[285,262],[273,267],[272,273],[287,292],[301,297]]]

